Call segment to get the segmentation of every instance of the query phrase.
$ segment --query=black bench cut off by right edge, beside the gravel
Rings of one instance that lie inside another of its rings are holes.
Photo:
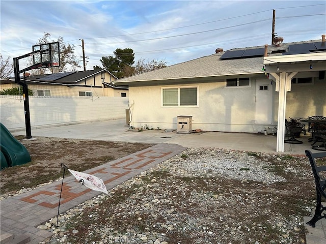
[[[315,162],[315,158],[326,157],[326,153],[313,154],[309,150],[305,150],[305,153],[306,153],[306,156],[309,159],[311,169],[312,169],[312,173],[313,173],[314,179],[315,179],[315,186],[316,186],[316,210],[315,210],[315,214],[314,214],[313,218],[309,222],[307,222],[307,225],[315,227],[316,222],[318,220],[320,220],[322,218],[326,218],[325,214],[321,215],[322,212],[324,210],[326,210],[326,207],[324,207],[321,204],[321,197],[326,199],[326,193],[325,193],[326,180],[319,174],[322,171],[326,171],[326,165],[317,166],[316,162]]]

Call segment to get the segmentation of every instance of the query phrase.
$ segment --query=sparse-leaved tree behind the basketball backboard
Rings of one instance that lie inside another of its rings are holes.
[[[50,40],[51,34],[44,33],[44,36],[39,39],[37,44],[46,44],[51,42],[59,42],[59,49],[60,49],[60,67],[53,67],[53,68],[42,68],[42,69],[34,69],[31,71],[32,75],[41,75],[50,73],[59,73],[59,72],[70,72],[76,71],[77,68],[80,68],[78,59],[74,54],[73,47],[70,44],[65,44],[62,37],[59,37],[57,41]],[[33,61],[30,60],[30,65],[32,65]]]

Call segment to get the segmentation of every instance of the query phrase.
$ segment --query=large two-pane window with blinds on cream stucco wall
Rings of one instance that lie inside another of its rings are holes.
[[[198,88],[163,88],[162,106],[197,106]]]

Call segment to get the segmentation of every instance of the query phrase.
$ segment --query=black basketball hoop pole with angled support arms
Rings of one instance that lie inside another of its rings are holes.
[[[47,49],[49,50],[49,49]],[[20,73],[23,73],[28,70],[35,69],[37,65],[32,65],[28,68],[25,68],[23,70],[19,70],[19,59],[32,56],[34,54],[37,54],[39,52],[44,52],[47,50],[38,50],[34,52],[30,52],[28,54],[22,55],[20,57],[14,57],[14,74],[15,74],[15,82],[22,86],[23,90],[23,100],[24,100],[24,113],[25,113],[25,127],[26,127],[26,138],[30,139],[32,138],[32,132],[31,132],[31,116],[30,116],[30,103],[29,103],[29,88],[26,84],[26,81],[22,82],[20,80]]]

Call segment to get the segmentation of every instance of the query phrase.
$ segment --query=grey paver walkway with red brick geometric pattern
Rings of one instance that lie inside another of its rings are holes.
[[[84,172],[101,178],[109,190],[185,149],[177,144],[161,143]],[[29,243],[39,243],[50,237],[53,233],[36,227],[57,216],[61,185],[62,180],[59,180],[0,201],[2,234],[28,235]],[[60,212],[100,194],[80,185],[72,175],[66,176]]]

